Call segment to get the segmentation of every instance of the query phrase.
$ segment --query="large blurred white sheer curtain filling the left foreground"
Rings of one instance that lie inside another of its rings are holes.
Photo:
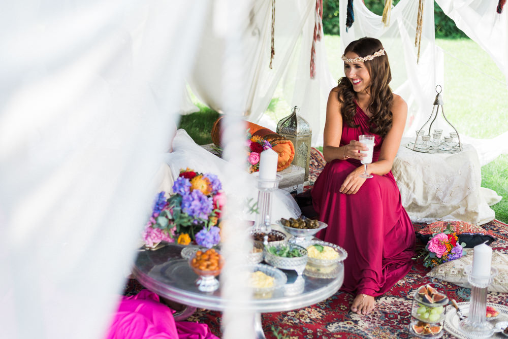
[[[104,336],[207,8],[22,1],[0,12],[3,337]]]

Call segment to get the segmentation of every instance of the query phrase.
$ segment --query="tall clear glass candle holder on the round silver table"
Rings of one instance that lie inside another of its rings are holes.
[[[282,180],[280,174],[275,175],[275,179],[260,178],[259,173],[254,174],[258,179],[258,215],[256,222],[252,227],[253,231],[261,231],[268,234],[271,232],[271,207],[272,207],[272,192],[279,187],[279,182]]]

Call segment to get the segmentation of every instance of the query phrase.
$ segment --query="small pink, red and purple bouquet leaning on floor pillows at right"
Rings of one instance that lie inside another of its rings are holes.
[[[457,234],[453,231],[453,227],[450,226],[441,233],[432,234],[432,238],[430,238],[427,246],[425,246],[422,254],[420,254],[420,256],[425,255],[423,265],[434,268],[444,262],[462,257],[465,254],[463,248],[466,244],[458,244],[457,242]]]

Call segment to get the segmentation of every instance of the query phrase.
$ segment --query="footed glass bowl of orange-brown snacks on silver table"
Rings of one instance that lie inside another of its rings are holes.
[[[219,275],[224,265],[224,258],[218,251],[213,248],[199,250],[190,256],[189,265],[199,276],[196,285],[200,291],[212,292],[219,287],[219,281],[215,277]]]

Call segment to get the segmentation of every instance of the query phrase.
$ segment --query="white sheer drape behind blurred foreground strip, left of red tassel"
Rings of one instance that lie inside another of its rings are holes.
[[[243,20],[242,41],[245,46],[244,64],[247,73],[242,82],[247,92],[242,97],[243,114],[253,122],[259,121],[270,104],[275,88],[287,67],[302,27],[309,17],[314,18],[313,0],[278,0],[275,3],[275,56],[270,64],[271,51],[271,2],[257,0]],[[189,79],[194,94],[207,106],[218,112],[223,111],[221,87],[223,77],[220,64],[227,58],[224,42],[211,29],[212,18],[205,26],[208,34],[200,42],[197,66]],[[310,49],[308,50],[310,60]],[[309,61],[310,62],[310,61]],[[310,64],[309,64],[310,67]],[[310,68],[309,68],[310,70]],[[307,74],[310,71],[307,71]],[[288,113],[289,114],[289,113]]]

